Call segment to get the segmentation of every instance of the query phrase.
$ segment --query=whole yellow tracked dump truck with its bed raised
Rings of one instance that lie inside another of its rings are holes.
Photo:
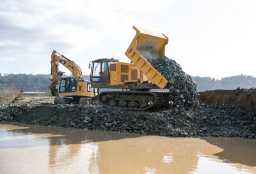
[[[136,30],[136,36],[125,52],[131,62],[119,62],[116,59],[97,59],[90,62],[92,87],[112,89],[100,92],[99,102],[102,105],[125,110],[168,107],[171,103],[170,92],[152,91],[168,89],[168,81],[149,63],[152,59],[164,57],[168,38],[164,34],[146,29],[133,29]]]

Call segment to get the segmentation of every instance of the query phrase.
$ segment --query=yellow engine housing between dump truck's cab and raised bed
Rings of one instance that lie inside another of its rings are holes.
[[[109,84],[108,85],[124,85],[125,82],[141,82],[147,80],[140,69],[132,63],[111,62],[109,64]]]

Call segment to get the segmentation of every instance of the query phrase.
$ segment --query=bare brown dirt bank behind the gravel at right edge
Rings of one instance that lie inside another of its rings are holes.
[[[256,89],[236,89],[236,90],[213,90],[199,92],[200,103],[214,105],[216,103],[229,103],[241,106],[256,114]]]

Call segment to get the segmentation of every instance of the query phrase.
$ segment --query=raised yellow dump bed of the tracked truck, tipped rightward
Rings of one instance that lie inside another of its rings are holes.
[[[168,38],[162,33],[134,27],[136,35],[125,55],[159,88],[164,89],[168,81],[150,64],[164,56]]]

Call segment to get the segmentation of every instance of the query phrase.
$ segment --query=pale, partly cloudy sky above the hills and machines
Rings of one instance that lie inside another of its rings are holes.
[[[135,25],[168,36],[166,57],[189,75],[256,76],[255,9],[255,0],[1,0],[0,73],[49,74],[52,50],[83,75],[95,59],[129,62]]]

